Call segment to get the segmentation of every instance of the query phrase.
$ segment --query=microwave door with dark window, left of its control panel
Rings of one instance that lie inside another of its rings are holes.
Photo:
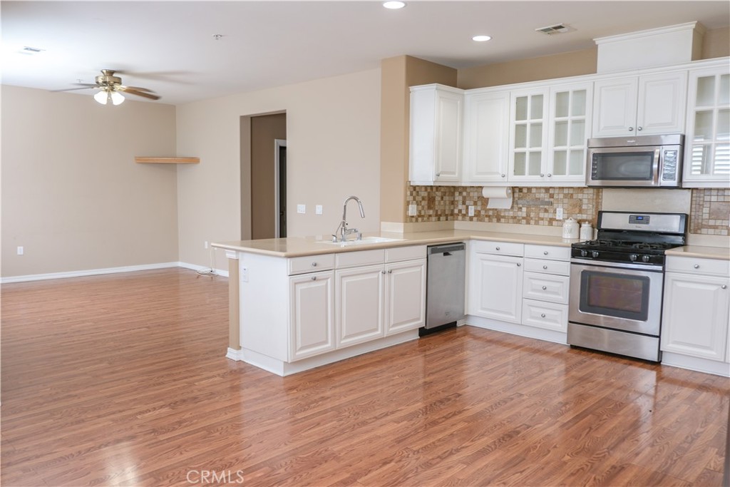
[[[661,147],[596,147],[588,150],[589,186],[648,187],[661,185]]]

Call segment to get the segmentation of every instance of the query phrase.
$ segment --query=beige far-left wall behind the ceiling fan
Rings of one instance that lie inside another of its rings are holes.
[[[175,107],[4,85],[2,277],[175,262]],[[25,255],[16,248],[23,246]]]

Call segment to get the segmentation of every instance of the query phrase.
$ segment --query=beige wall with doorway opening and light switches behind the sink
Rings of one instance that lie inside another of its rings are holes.
[[[351,226],[380,228],[380,69],[372,69],[177,107],[177,150],[201,158],[178,171],[180,261],[208,265],[204,241],[240,239],[240,118],[272,112],[287,116],[288,234],[333,233],[351,194],[366,216],[353,204]]]

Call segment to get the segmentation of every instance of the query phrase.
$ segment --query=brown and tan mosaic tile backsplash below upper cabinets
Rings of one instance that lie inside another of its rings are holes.
[[[408,223],[434,221],[484,221],[523,225],[562,226],[555,210],[563,207],[565,218],[590,221],[595,227],[602,206],[600,188],[512,188],[512,208],[487,208],[480,186],[409,186],[407,204],[418,206],[418,215]],[[474,216],[469,216],[469,207]],[[694,189],[690,210],[690,233],[728,235],[730,190]]]

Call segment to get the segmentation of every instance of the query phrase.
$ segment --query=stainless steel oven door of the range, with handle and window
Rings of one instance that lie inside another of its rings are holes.
[[[572,259],[568,319],[573,323],[659,335],[664,272],[640,264]]]

